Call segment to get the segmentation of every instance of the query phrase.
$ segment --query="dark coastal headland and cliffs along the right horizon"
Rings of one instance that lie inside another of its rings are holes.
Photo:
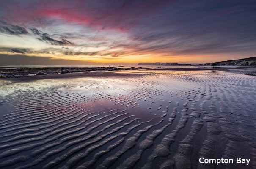
[[[226,60],[221,62],[214,63],[204,63],[204,64],[180,64],[180,63],[139,63],[138,65],[147,65],[147,66],[256,66],[256,57],[249,57],[238,60]]]

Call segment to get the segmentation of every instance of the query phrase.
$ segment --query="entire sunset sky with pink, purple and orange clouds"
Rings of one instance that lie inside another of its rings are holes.
[[[255,57],[255,0],[0,0],[0,65]]]

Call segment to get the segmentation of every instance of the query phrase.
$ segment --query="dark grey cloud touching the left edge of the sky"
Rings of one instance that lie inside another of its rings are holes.
[[[11,25],[3,21],[0,21],[0,32],[9,35],[28,34],[28,31],[24,27],[20,27],[18,25]]]

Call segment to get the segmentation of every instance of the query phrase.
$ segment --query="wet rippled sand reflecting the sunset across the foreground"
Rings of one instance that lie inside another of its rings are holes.
[[[0,80],[0,168],[256,168],[255,76],[151,69]]]

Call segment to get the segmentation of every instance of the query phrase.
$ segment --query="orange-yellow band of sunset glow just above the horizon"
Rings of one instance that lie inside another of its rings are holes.
[[[200,64],[200,63],[212,63],[228,60],[228,56],[222,55],[187,55],[187,56],[156,56],[156,55],[129,55],[120,57],[111,56],[69,56],[69,55],[53,55],[53,54],[17,54],[11,52],[0,52],[4,55],[26,55],[29,57],[47,57],[50,60],[70,60],[81,61],[81,63],[184,63],[184,64]],[[233,56],[234,58],[234,56]],[[240,59],[241,57],[235,57],[234,59]]]

